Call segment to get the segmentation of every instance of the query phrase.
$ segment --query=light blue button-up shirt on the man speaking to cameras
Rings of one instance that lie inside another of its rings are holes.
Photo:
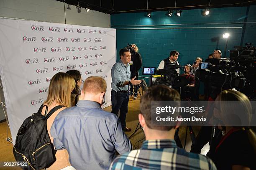
[[[125,81],[131,80],[131,71],[129,63],[125,64],[119,60],[111,69],[111,88],[115,91],[128,91],[129,85],[123,86]]]

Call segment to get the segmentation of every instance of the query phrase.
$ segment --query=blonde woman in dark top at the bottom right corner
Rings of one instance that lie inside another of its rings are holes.
[[[240,101],[236,104],[225,101]],[[243,111],[241,112],[241,108]],[[218,170],[256,170],[256,136],[248,126],[228,126],[239,124],[236,112],[250,123],[251,103],[239,91],[224,90],[216,99],[214,116],[223,121],[226,134],[215,148],[213,161]],[[243,124],[245,125],[245,124]]]

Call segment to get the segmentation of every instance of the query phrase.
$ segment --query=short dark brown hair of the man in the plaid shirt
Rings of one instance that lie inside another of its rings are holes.
[[[148,91],[141,97],[141,114],[143,115],[148,128],[167,131],[172,129],[174,126],[159,126],[151,122],[151,101],[177,101],[179,105],[180,96],[177,90],[169,88],[164,84],[158,86],[152,86]]]

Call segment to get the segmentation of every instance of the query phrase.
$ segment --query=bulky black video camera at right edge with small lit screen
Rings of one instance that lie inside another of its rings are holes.
[[[217,95],[221,90],[236,88],[250,99],[255,98],[256,48],[251,43],[239,50],[237,46],[234,48],[230,50],[232,60],[209,58],[208,62],[200,63],[196,76],[205,83],[208,94],[215,91]]]

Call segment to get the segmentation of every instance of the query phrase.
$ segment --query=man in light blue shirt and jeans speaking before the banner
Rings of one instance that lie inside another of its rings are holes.
[[[141,83],[140,80],[135,80],[136,77],[131,77],[130,62],[131,62],[131,52],[126,49],[121,49],[119,51],[120,60],[115,63],[111,69],[111,102],[112,110],[111,112],[118,116],[120,110],[119,118],[121,121],[122,129],[125,132],[130,132],[132,129],[126,127],[126,114],[128,112],[128,102],[129,102],[129,91],[130,84],[138,85]]]

